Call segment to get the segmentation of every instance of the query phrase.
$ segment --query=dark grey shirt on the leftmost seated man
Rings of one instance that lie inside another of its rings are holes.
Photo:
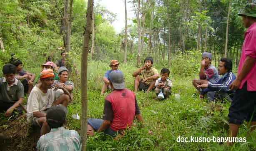
[[[0,78],[0,101],[4,103],[15,103],[24,97],[24,87],[20,80],[15,79],[12,86],[9,87],[5,78]]]

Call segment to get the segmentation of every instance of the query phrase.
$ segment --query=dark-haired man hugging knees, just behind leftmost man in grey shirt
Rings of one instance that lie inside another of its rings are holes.
[[[31,90],[33,89],[35,74],[25,71],[23,69],[23,63],[20,59],[15,59],[12,64],[15,65],[17,69],[17,75],[15,76],[15,78],[20,80],[23,84],[24,93],[30,94]]]

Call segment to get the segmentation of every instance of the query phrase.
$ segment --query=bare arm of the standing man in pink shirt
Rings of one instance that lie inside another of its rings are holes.
[[[240,74],[237,75],[237,78],[229,86],[231,90],[238,89],[241,81],[246,77],[246,75],[251,71],[251,68],[254,66],[256,58],[247,56],[243,64]]]

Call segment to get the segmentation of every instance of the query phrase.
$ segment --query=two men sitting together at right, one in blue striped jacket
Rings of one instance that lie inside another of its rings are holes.
[[[222,58],[218,63],[218,70],[211,64],[211,60],[212,54],[203,52],[200,79],[193,79],[193,86],[200,92],[200,98],[205,97],[208,101],[232,101],[234,90],[229,89],[229,86],[236,79],[236,75],[232,73],[231,59]]]

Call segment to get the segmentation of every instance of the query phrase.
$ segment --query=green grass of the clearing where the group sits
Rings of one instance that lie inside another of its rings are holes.
[[[158,72],[164,65],[154,65]],[[100,96],[102,78],[106,70],[110,69],[102,61],[90,62],[88,65],[88,118],[101,118],[103,114],[104,98]],[[120,64],[119,69],[125,74],[125,85],[133,91],[132,73],[137,69],[135,64]],[[40,69],[32,69],[39,73]],[[246,143],[236,143],[227,147],[225,143],[178,143],[181,137],[226,137],[228,136],[228,108],[229,102],[216,103],[223,106],[221,111],[214,109],[213,104],[206,103],[192,95],[196,92],[191,80],[198,77],[190,74],[187,77],[177,75],[171,68],[170,79],[173,82],[172,96],[164,101],[156,101],[156,94],[138,92],[136,95],[144,124],[133,127],[120,141],[114,141],[110,136],[97,134],[88,139],[88,151],[256,151],[256,131],[247,135],[248,125],[241,125],[238,137],[246,137]],[[80,77],[70,78],[75,83],[74,103],[68,106],[68,129],[80,130],[80,120],[73,119],[72,115],[81,116],[80,105]],[[110,92],[108,92],[110,93]],[[180,94],[176,99],[174,94]],[[3,119],[3,117],[2,117]],[[153,131],[149,134],[148,130]]]

